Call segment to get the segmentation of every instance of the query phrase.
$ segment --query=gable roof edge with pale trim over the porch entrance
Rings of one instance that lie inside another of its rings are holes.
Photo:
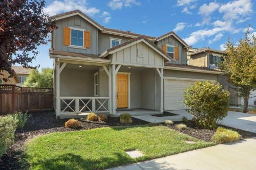
[[[168,54],[166,54],[161,48],[159,48],[152,41],[148,40],[147,37],[145,37],[145,36],[140,36],[140,37],[137,37],[137,38],[125,41],[125,42],[123,42],[123,43],[121,43],[119,45],[113,46],[112,48],[109,48],[108,50],[103,52],[99,57],[106,57],[109,54],[113,54],[115,52],[123,50],[124,48],[129,47],[129,46],[131,46],[133,44],[136,44],[136,43],[139,43],[139,42],[146,43],[148,46],[153,48],[153,50],[155,50],[158,54],[160,54],[162,57],[164,57],[167,61],[172,60],[172,58],[170,58],[168,56]]]

